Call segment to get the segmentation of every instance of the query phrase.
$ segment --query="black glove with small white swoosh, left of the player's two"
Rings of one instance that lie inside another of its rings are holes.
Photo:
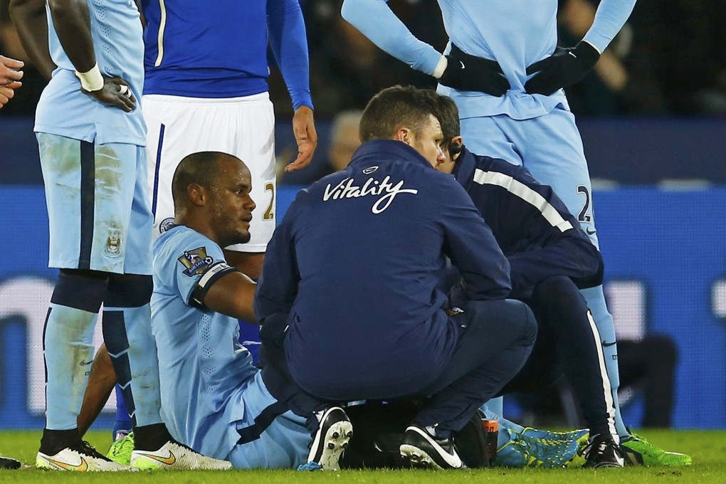
[[[459,91],[480,91],[492,96],[504,96],[510,88],[496,60],[482,59],[462,52],[452,45],[451,54],[446,56],[449,65],[439,82]]]

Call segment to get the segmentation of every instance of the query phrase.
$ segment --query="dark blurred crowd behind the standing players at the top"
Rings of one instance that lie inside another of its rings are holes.
[[[301,0],[310,50],[311,91],[317,119],[359,110],[393,84],[434,87],[433,78],[384,53],[340,17],[342,0]],[[560,0],[560,44],[572,46],[595,15],[597,0]],[[28,58],[0,0],[0,52]],[[436,0],[391,0],[418,38],[446,45]],[[638,0],[629,21],[595,70],[571,89],[579,116],[725,116],[726,1]],[[285,84],[270,56],[271,94],[279,115],[292,112]],[[33,115],[45,81],[30,66],[23,89],[0,116]]]

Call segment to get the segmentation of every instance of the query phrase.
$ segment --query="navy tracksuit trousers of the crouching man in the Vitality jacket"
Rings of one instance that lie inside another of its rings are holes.
[[[433,383],[406,397],[431,397],[414,423],[423,427],[436,425],[441,437],[461,430],[477,409],[519,372],[537,336],[534,315],[521,301],[469,301],[462,309],[463,313],[452,316],[460,335],[449,364]],[[270,393],[306,417],[333,403],[310,395],[295,384],[280,345],[282,338],[267,339],[265,335],[269,333],[269,328],[262,332],[260,358],[264,364],[262,376]],[[361,372],[364,371],[362,365]],[[355,385],[356,375],[349,377],[351,386]]]

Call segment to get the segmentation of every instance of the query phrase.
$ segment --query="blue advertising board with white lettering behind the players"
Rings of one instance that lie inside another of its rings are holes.
[[[280,187],[278,217],[297,191]],[[620,337],[672,337],[680,355],[675,426],[726,428],[726,188],[631,187],[593,197]],[[0,429],[40,428],[41,334],[56,276],[46,268],[43,189],[0,185],[0,207]],[[626,409],[637,425],[637,404]],[[98,425],[109,426],[109,414]]]

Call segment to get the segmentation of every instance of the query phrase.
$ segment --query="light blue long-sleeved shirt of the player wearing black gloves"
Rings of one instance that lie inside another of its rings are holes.
[[[381,49],[414,69],[433,73],[441,53],[415,38],[393,14],[387,0],[346,0],[341,11]],[[602,0],[584,40],[603,52],[629,17],[635,0]],[[526,67],[555,52],[557,0],[439,0],[451,42],[468,54],[499,62],[511,89],[502,97],[439,86],[459,107],[460,118],[508,115],[536,118],[558,104],[568,107],[561,89],[550,96],[527,94]],[[448,50],[448,47],[447,47]]]

